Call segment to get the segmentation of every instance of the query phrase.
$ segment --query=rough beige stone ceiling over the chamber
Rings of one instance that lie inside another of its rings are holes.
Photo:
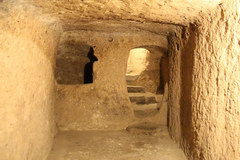
[[[199,12],[212,10],[221,0],[21,0],[43,7],[65,22],[133,20],[188,24]],[[81,13],[81,14],[79,14]]]

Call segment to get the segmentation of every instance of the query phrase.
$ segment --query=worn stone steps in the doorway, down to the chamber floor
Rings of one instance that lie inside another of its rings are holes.
[[[143,86],[136,86],[137,78],[136,75],[126,75],[129,99],[137,118],[126,131],[130,134],[162,134],[161,128],[167,124],[167,111],[162,107],[163,95],[149,93]]]

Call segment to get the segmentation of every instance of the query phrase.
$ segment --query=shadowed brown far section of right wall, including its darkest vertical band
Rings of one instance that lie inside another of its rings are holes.
[[[196,26],[179,28],[170,41],[169,130],[187,151],[194,148],[192,122],[193,56],[198,37]]]

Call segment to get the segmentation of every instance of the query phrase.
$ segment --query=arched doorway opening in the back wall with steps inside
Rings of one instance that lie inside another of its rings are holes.
[[[167,123],[167,95],[164,95],[165,75],[168,74],[166,53],[166,49],[158,46],[134,48],[129,52],[127,91],[137,118],[150,118],[162,112],[162,123]]]

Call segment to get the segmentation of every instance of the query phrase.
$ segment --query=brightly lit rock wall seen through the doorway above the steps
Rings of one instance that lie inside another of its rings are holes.
[[[136,76],[136,80],[130,84],[143,86],[146,91],[151,93],[159,93],[160,79],[163,79],[161,72],[162,69],[164,69],[164,65],[166,65],[162,63],[162,57],[167,55],[168,44],[164,46],[164,48],[159,46],[140,46],[140,48],[147,51],[145,57],[138,57],[137,52],[135,53],[136,55],[133,54],[134,52],[132,51],[134,51],[134,49],[129,53],[127,75]]]

